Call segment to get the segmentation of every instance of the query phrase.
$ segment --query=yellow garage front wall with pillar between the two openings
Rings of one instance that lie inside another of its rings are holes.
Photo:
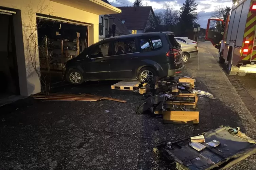
[[[36,23],[35,13],[49,14],[48,9],[38,11],[38,7],[42,5],[49,5],[54,11],[53,16],[91,24],[88,33],[88,43],[91,45],[99,41],[99,15],[97,14],[49,0],[1,0],[0,8],[8,7],[16,12],[13,15],[13,21],[21,95],[31,95],[40,92],[40,80],[33,67],[35,65],[38,68],[37,70],[40,70],[38,47],[35,47],[33,42],[27,41],[28,38],[26,37],[35,27],[35,24],[33,24],[33,22]],[[32,12],[31,17],[28,15],[29,12]],[[37,40],[36,31],[33,33],[33,36]],[[33,60],[30,57],[31,55],[29,55],[31,52],[35,54],[35,59]]]

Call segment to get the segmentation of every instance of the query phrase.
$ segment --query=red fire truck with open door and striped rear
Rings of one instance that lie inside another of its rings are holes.
[[[224,29],[223,29],[224,26]],[[226,22],[209,19],[206,39],[219,49],[219,63],[228,62],[228,74],[256,73],[256,0],[232,7]]]

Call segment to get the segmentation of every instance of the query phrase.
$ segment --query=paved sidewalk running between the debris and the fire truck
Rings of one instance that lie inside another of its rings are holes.
[[[246,135],[256,139],[256,123],[235,88],[227,79],[224,70],[209,52],[208,46],[199,42],[199,57],[186,64],[185,74],[196,78],[196,89],[212,93],[216,99],[200,99],[200,123],[194,134],[202,129],[229,125],[240,127]],[[256,155],[246,158],[229,169],[255,169]]]

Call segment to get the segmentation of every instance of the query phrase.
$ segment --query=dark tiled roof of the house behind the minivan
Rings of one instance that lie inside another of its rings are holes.
[[[124,25],[128,29],[145,29],[150,11],[153,13],[151,6],[123,6],[117,7],[122,10],[120,14],[110,14],[125,21]]]

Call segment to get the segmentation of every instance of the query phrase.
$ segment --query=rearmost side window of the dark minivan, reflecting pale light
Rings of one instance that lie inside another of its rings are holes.
[[[140,52],[157,50],[162,46],[163,45],[159,36],[140,39]]]

